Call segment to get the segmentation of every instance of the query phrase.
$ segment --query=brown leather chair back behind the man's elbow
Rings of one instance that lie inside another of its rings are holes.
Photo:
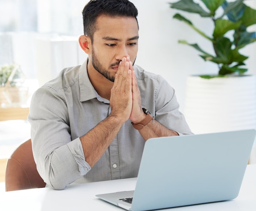
[[[5,171],[5,191],[43,188],[45,182],[40,177],[32,153],[31,139],[22,143],[7,160]]]

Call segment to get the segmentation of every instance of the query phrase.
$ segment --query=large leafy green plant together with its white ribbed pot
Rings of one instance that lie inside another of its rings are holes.
[[[213,21],[212,30],[204,32],[181,14],[173,16],[209,40],[212,48],[203,49],[186,40],[179,40],[179,43],[195,48],[204,61],[218,66],[216,74],[187,77],[184,108],[187,122],[194,133],[256,128],[256,77],[244,74],[248,56],[240,52],[256,41],[256,33],[247,30],[256,24],[256,10],[248,7],[244,0],[197,2],[199,4],[193,0],[170,3],[173,9],[196,13]]]

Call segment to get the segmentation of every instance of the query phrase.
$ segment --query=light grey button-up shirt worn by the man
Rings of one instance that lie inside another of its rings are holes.
[[[47,186],[137,177],[145,140],[130,120],[119,130],[93,168],[85,161],[79,137],[111,113],[110,103],[94,90],[87,62],[64,69],[33,95],[28,121],[38,172]],[[134,66],[141,104],[157,121],[180,135],[191,134],[178,110],[173,88],[159,75]],[[109,126],[111,129],[111,125]],[[152,166],[152,171],[155,170]]]

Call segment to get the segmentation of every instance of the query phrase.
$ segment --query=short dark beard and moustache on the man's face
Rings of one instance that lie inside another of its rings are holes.
[[[136,58],[135,58],[136,60]],[[134,65],[135,63],[132,63],[132,65]],[[121,61],[121,60],[120,60]],[[111,64],[109,66],[109,68],[111,67],[115,67],[117,65],[119,65],[120,61],[116,62],[115,64]],[[94,50],[92,48],[92,66],[94,67],[95,70],[97,70],[101,75],[103,75],[106,79],[114,82],[115,81],[115,76],[111,76],[110,72],[108,70],[104,70],[103,66],[101,65],[101,63],[99,62],[99,59],[97,58],[96,54],[94,54]]]

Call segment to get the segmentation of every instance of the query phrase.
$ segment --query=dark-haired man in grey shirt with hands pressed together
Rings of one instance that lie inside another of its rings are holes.
[[[136,7],[91,0],[83,22],[88,59],[39,88],[28,117],[38,172],[54,189],[136,177],[147,139],[191,134],[171,86],[133,65]]]

